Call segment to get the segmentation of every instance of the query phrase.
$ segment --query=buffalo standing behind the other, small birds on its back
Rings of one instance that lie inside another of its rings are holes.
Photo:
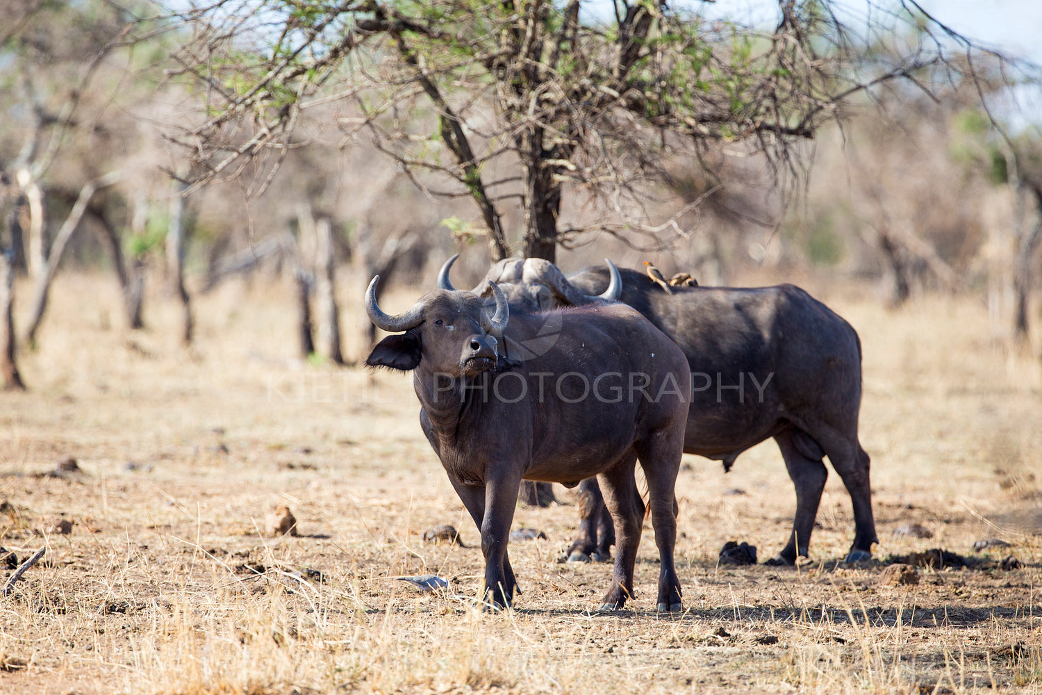
[[[439,275],[451,288],[449,258]],[[537,258],[501,260],[496,277],[512,305],[528,311],[581,305],[618,282],[617,298],[647,317],[684,350],[692,400],[684,450],[722,461],[774,438],[796,488],[792,533],[769,564],[807,555],[828,473],[828,455],[850,493],[854,538],[846,561],[871,556],[877,543],[869,488],[869,456],[858,441],[861,341],[827,306],[791,284],[734,289],[672,287],[667,293],[646,273],[588,268],[565,278]],[[542,301],[534,301],[534,298]],[[610,556],[612,528],[596,480],[579,488],[579,532],[568,553]]]

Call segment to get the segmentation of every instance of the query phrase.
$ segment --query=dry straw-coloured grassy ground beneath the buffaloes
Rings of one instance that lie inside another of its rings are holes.
[[[515,610],[474,610],[478,536],[411,379],[294,358],[290,296],[198,298],[184,350],[169,299],[128,333],[108,280],[59,278],[22,361],[30,391],[0,394],[0,543],[18,562],[47,548],[0,598],[0,692],[1042,692],[1042,366],[976,300],[822,297],[864,344],[873,561],[840,563],[852,521],[833,474],[808,563],[719,565],[727,541],[761,563],[782,548],[792,483],[770,442],[727,474],[686,456],[687,611],[660,616],[649,526],[637,599],[591,613],[610,567],[557,562],[576,519],[563,488],[515,516],[547,536],[511,544]],[[78,472],[46,475],[67,457]],[[278,505],[299,537],[263,533]],[[438,523],[465,545],[425,543]],[[974,550],[989,540],[1008,545]],[[969,566],[914,554],[935,548]],[[450,586],[396,579],[422,574]]]

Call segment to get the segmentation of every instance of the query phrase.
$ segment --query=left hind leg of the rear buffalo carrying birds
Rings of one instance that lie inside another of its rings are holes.
[[[798,440],[797,438],[804,438]],[[807,555],[811,544],[811,532],[814,530],[814,519],[818,515],[821,503],[821,493],[825,489],[828,471],[821,461],[822,451],[817,458],[813,454],[821,450],[818,444],[802,431],[790,427],[774,436],[789,477],[796,488],[796,515],[792,521],[792,535],[789,543],[777,557],[768,560],[768,565],[792,565],[796,557]]]

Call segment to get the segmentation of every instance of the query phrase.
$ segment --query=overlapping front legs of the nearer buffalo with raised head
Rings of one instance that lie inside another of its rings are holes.
[[[481,535],[481,553],[485,555],[485,581],[478,594],[478,601],[492,609],[510,606],[514,593],[521,593],[511,567],[510,555],[506,553],[506,541],[510,538],[510,527],[514,519],[514,506],[517,501],[517,487],[514,488],[511,503],[506,512],[495,512],[495,503],[500,507],[502,492],[494,492],[494,486],[466,485],[451,475],[449,480],[463,501],[467,512],[474,520]],[[506,494],[510,494],[508,491]],[[505,519],[503,518],[505,516]]]

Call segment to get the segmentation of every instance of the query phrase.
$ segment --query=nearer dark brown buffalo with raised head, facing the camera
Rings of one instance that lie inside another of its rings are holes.
[[[506,544],[522,478],[574,487],[598,475],[618,536],[601,607],[621,607],[634,593],[644,518],[640,460],[661,561],[658,607],[681,610],[673,487],[690,379],[679,348],[623,304],[511,318],[492,282],[491,318],[477,295],[445,290],[389,316],[376,303],[378,279],[366,294],[369,318],[404,333],[380,341],[366,364],[414,373],[420,424],[480,530],[481,600],[501,607],[514,598]]]

